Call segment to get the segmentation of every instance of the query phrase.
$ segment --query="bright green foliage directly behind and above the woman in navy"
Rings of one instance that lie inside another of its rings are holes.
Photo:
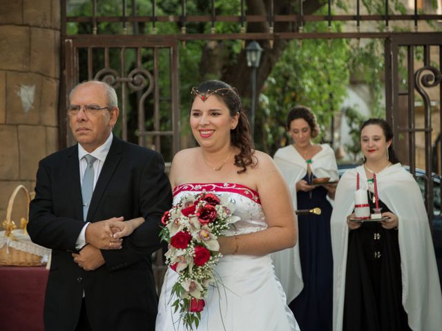
[[[334,23],[332,30],[340,30]],[[307,24],[305,32],[325,32],[327,23]],[[345,39],[290,41],[273,67],[260,97],[256,128],[257,148],[273,154],[285,146],[289,110],[302,104],[313,110],[321,129],[318,140],[331,140],[332,116],[340,108],[349,85],[348,62],[352,54]]]

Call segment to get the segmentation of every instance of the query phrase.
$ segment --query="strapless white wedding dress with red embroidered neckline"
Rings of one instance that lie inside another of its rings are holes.
[[[184,184],[173,192],[173,201],[182,194],[205,190],[220,196],[229,194],[236,203],[235,223],[226,235],[265,230],[267,223],[258,193],[235,183]],[[286,304],[285,293],[276,278],[269,255],[263,257],[229,254],[215,266],[217,285],[209,288],[206,306],[201,312],[198,331],[293,331],[299,330],[293,313]],[[164,277],[160,294],[156,331],[186,330],[178,313],[173,312],[171,288],[177,273],[170,268]]]

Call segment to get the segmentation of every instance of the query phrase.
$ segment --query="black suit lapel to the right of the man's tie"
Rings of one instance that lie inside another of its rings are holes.
[[[88,217],[86,221],[90,222],[90,220],[93,219],[93,216],[97,211],[99,202],[102,200],[104,191],[106,190],[108,183],[111,181],[115,169],[117,169],[117,165],[121,159],[122,141],[114,136],[111,149],[108,152],[106,161],[104,161],[102,171],[99,174],[97,184],[95,185],[95,189],[92,194],[92,200],[90,201]]]

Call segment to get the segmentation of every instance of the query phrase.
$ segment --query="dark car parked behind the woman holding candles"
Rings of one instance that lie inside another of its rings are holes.
[[[347,170],[355,168],[358,164],[340,164],[338,165],[339,177],[341,177]],[[405,165],[404,168],[410,171],[410,167]],[[425,199],[425,170],[418,169],[414,171],[414,178],[416,179],[419,188],[421,189],[422,197]],[[433,182],[433,217],[431,220],[434,252],[436,254],[437,266],[439,269],[439,279],[442,286],[442,213],[441,213],[441,181],[442,177],[439,174],[432,174]]]

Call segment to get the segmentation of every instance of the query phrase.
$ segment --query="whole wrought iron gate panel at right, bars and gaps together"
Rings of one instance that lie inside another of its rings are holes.
[[[440,33],[421,33],[419,38],[413,34],[394,34],[385,40],[386,117],[394,130],[398,156],[410,165],[412,174],[417,160],[424,160],[425,205],[430,220],[434,217],[433,173],[442,174],[441,68]],[[416,122],[419,112],[423,113],[423,123]],[[419,135],[423,135],[424,141],[421,150],[416,139]]]

